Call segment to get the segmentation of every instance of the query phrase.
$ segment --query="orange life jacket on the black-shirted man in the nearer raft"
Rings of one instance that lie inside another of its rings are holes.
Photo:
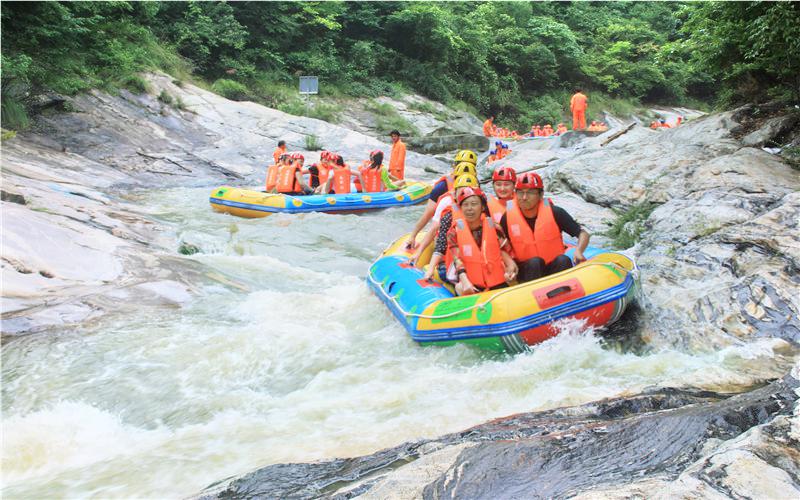
[[[549,264],[566,251],[561,229],[553,215],[552,203],[552,201],[544,199],[539,201],[533,231],[516,201],[510,200],[506,204],[508,239],[511,241],[515,259],[518,262],[541,257],[545,264]]]

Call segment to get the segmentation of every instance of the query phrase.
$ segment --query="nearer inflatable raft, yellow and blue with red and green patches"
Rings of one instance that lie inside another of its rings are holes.
[[[420,235],[421,236],[421,235]],[[588,326],[617,321],[636,299],[639,271],[625,255],[589,247],[589,259],[536,281],[457,297],[438,281],[423,280],[410,265],[407,236],[395,241],[370,267],[367,283],[423,345],[472,344],[493,351],[522,352],[558,334],[553,322],[586,320]],[[420,258],[430,260],[431,248]],[[572,257],[573,249],[567,252]]]

